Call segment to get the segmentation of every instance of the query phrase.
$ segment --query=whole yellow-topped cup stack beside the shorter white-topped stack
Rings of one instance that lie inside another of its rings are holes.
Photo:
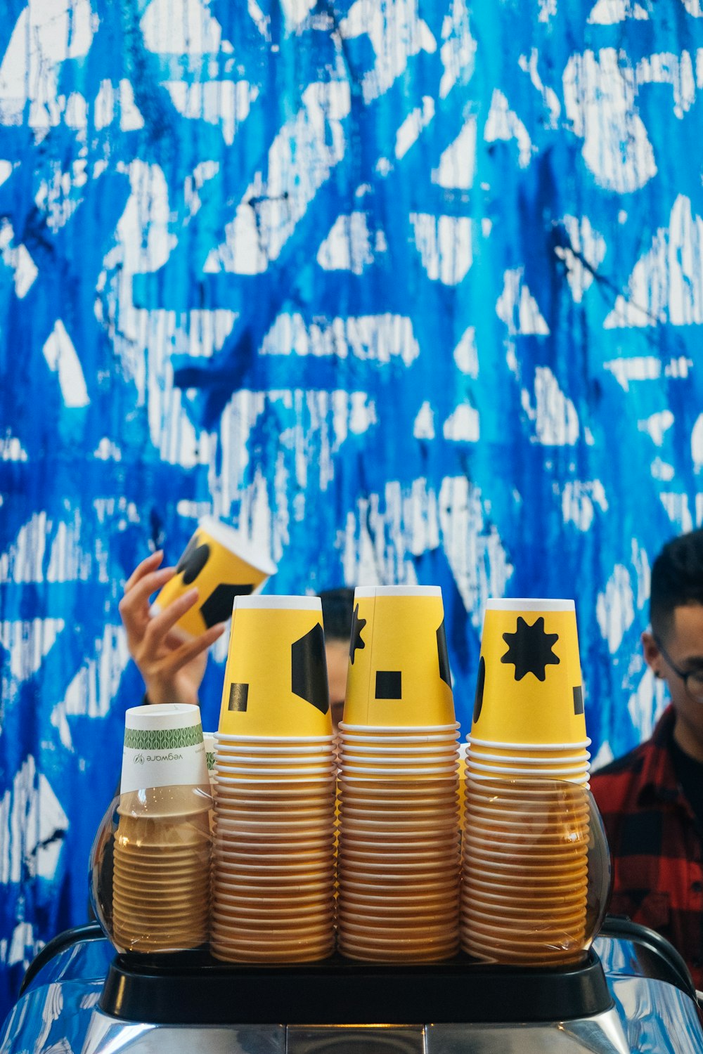
[[[335,773],[319,600],[237,598],[215,740],[216,958],[332,953]]]

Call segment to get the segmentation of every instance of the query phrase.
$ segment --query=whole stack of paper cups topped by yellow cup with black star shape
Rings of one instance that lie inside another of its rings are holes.
[[[488,601],[467,740],[462,948],[575,961],[593,806],[572,601]]]

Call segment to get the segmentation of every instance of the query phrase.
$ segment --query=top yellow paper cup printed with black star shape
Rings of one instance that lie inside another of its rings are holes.
[[[488,601],[474,737],[526,745],[586,739],[573,601]]]

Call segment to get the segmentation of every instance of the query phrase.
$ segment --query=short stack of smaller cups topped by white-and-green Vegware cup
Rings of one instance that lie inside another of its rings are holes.
[[[114,843],[119,949],[177,951],[207,941],[212,804],[198,707],[129,709]]]

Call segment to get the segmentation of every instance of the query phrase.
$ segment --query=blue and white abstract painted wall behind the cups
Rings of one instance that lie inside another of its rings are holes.
[[[650,563],[703,520],[703,5],[2,8],[6,1002],[85,917],[122,584],[202,512],[278,592],[440,583],[465,720],[486,598],[572,596],[600,758],[649,731]]]

